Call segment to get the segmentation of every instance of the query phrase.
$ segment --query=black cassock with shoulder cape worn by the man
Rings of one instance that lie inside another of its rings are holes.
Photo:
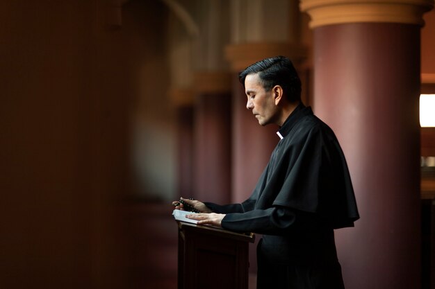
[[[344,288],[334,229],[359,218],[349,170],[334,132],[300,104],[245,202],[218,205],[222,227],[263,234],[257,289]]]

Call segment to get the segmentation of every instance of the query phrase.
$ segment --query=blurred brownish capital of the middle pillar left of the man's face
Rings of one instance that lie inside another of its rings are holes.
[[[219,93],[231,91],[231,74],[227,71],[197,71],[193,75],[195,92]]]

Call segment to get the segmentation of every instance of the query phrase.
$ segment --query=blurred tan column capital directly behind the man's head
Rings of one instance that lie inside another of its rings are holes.
[[[245,69],[254,62],[277,55],[287,56],[297,67],[297,64],[307,57],[308,49],[301,44],[286,42],[242,43],[225,47],[225,56],[231,64],[231,71],[236,72]]]

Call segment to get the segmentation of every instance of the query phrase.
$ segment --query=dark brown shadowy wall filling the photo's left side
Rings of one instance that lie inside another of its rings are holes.
[[[124,287],[133,80],[140,62],[151,91],[165,81],[165,16],[126,13],[154,30],[127,33],[108,25],[109,2],[2,2],[0,288]]]

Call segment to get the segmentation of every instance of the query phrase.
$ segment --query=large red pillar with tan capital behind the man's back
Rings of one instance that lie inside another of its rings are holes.
[[[425,1],[361,0],[352,10],[340,1],[303,2],[314,26],[315,114],[343,147],[361,215],[355,228],[336,231],[346,288],[420,288],[418,96],[427,7],[418,4]]]

